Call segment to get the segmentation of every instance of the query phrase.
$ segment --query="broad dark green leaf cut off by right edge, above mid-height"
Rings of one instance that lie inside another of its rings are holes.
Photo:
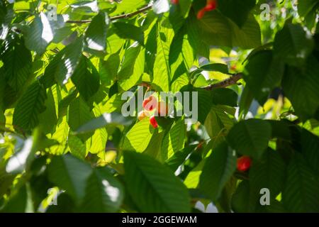
[[[319,62],[310,56],[305,70],[288,67],[282,81],[285,96],[291,101],[293,109],[303,121],[315,116],[319,107],[318,74]]]

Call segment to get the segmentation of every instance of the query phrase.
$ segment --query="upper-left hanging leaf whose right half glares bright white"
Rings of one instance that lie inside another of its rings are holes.
[[[54,31],[49,18],[41,12],[40,16],[35,16],[30,27],[26,30],[26,47],[42,55],[53,37]]]

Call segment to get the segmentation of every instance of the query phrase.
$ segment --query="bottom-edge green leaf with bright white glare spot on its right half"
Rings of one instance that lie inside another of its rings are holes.
[[[95,169],[86,182],[81,212],[116,212],[123,201],[123,187],[106,168]]]

